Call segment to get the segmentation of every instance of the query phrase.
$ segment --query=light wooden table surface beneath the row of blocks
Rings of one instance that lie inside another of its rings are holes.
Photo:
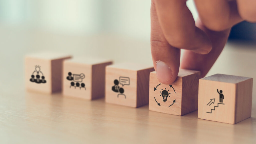
[[[3,32],[5,29],[1,30]],[[86,39],[84,37],[64,36],[63,38],[60,35],[24,35],[24,33],[24,31],[14,30],[12,33],[6,31],[5,35],[0,35],[1,51],[3,50],[0,57],[0,143],[256,142],[255,82],[252,116],[235,125],[198,119],[197,111],[184,116],[175,116],[149,111],[148,105],[130,108],[106,104],[104,99],[89,101],[63,97],[60,93],[48,95],[27,92],[24,88],[24,54],[33,51],[34,48],[37,48],[36,46],[43,48],[50,44],[56,44],[69,47],[77,43],[80,45],[90,43],[90,41],[91,44],[94,44],[95,40],[89,39],[84,42]],[[98,40],[99,38],[94,39]],[[124,42],[120,40],[115,47],[122,46]],[[107,39],[105,44],[108,43]],[[136,41],[134,43],[128,41],[124,46],[128,43],[139,45],[145,49],[149,47],[148,42],[142,44]],[[235,47],[236,45],[231,46]],[[112,48],[113,45],[109,44],[107,47]],[[80,49],[82,50],[81,47]],[[134,47],[134,49],[137,48]],[[66,51],[68,52],[68,50]],[[78,53],[81,51],[78,50]],[[82,51],[82,53],[85,52]],[[91,53],[93,51],[89,51],[89,54]],[[130,53],[132,54],[132,52]],[[145,59],[151,63],[150,49],[146,54]],[[255,54],[255,50],[224,50],[210,74],[224,73],[254,77]],[[104,56],[104,54],[99,55]],[[230,60],[227,60],[227,57]],[[233,60],[231,60],[232,57],[234,57]],[[236,61],[238,57],[240,60]],[[114,60],[121,58],[116,56]],[[251,65],[250,62],[254,65]],[[239,66],[243,67],[239,68]]]

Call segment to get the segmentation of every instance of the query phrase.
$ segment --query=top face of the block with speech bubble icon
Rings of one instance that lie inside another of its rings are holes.
[[[107,67],[139,71],[139,70],[143,70],[143,69],[152,68],[153,64],[117,63],[117,64],[109,65]]]

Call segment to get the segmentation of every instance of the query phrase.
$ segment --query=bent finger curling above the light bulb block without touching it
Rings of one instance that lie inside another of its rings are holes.
[[[186,0],[156,0],[156,13],[167,42],[173,47],[207,54],[211,41],[207,34],[196,27]]]

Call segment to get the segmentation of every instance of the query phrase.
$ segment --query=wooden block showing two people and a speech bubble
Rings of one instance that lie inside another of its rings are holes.
[[[106,67],[105,101],[140,107],[148,104],[149,74],[152,65],[120,63]]]

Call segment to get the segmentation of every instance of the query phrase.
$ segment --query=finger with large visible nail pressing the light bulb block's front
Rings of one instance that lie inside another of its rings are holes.
[[[153,1],[151,3],[151,54],[157,79],[163,84],[172,84],[179,72],[180,49],[172,47],[165,39]]]

